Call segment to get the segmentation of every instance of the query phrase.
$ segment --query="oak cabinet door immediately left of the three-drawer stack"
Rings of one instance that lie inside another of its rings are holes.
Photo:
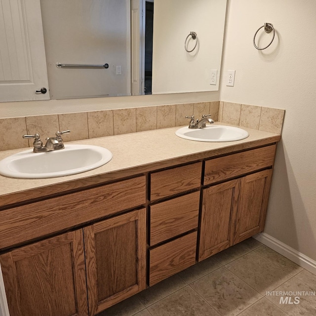
[[[146,288],[146,210],[83,229],[89,315]]]

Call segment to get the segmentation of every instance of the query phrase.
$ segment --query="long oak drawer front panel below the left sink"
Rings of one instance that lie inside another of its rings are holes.
[[[140,176],[0,212],[0,249],[71,228],[146,202]]]

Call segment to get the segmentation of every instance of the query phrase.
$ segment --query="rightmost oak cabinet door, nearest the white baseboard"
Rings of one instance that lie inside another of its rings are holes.
[[[263,232],[272,169],[241,178],[234,244]]]

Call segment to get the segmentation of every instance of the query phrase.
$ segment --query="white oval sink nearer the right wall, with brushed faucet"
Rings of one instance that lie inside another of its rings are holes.
[[[176,135],[198,142],[232,142],[247,138],[249,133],[242,128],[225,125],[206,125],[203,128],[191,129],[187,126],[176,131]]]

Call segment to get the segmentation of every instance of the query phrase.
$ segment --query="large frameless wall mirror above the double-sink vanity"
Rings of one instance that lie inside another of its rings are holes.
[[[26,75],[19,74],[20,77],[10,79],[14,82],[14,89],[23,80],[26,83],[32,81],[33,75],[38,73],[32,70],[35,63],[47,69],[48,83],[42,80],[43,83],[34,84],[31,96],[25,93],[18,97],[12,92],[16,90],[6,89],[7,95],[0,101],[218,90],[227,0],[10,2],[15,3],[16,12],[12,11],[11,3],[10,8],[3,9],[2,15],[11,15],[12,25],[16,23],[14,14],[30,22],[32,12],[31,26],[35,24],[36,15],[41,16],[46,58],[45,67],[38,56],[35,61],[32,60],[35,53],[29,52],[28,48],[16,49],[14,43],[9,45],[7,56],[16,55],[15,60],[7,57],[11,69],[14,62],[22,65],[21,60],[26,65]],[[35,2],[39,2],[39,8],[31,7],[31,3]],[[7,25],[10,23],[6,22]],[[20,26],[23,24],[25,21],[20,22]],[[3,29],[8,27],[3,24]],[[22,43],[25,42],[24,37],[27,40],[31,38],[30,29],[28,27],[27,32],[21,32]],[[196,39],[190,35],[191,32],[197,34]],[[14,27],[12,35],[7,34],[6,39],[17,38]],[[185,40],[189,52],[185,49]],[[5,37],[0,37],[1,46],[4,41]],[[32,45],[40,45],[38,35]],[[40,49],[36,54],[40,54]],[[10,71],[8,68],[7,74]],[[0,70],[2,90],[8,82],[7,75],[4,75],[1,79]],[[49,91],[41,95],[40,88],[46,85]]]

